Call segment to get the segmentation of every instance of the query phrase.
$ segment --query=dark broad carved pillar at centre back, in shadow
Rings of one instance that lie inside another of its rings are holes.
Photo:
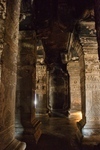
[[[50,116],[68,116],[70,107],[69,76],[53,66],[49,73],[49,111]]]

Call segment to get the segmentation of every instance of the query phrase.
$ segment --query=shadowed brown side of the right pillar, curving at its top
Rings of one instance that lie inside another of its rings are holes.
[[[72,47],[78,54],[79,57],[79,67],[80,67],[80,92],[81,92],[81,111],[82,111],[82,120],[80,121],[80,128],[84,126],[85,123],[85,63],[84,63],[84,53],[82,45],[80,44],[79,39],[74,35]]]

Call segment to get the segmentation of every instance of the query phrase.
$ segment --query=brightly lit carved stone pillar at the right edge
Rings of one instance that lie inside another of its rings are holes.
[[[81,22],[80,41],[85,61],[85,115],[84,135],[94,134],[100,130],[100,69],[98,61],[97,40],[94,22]],[[83,33],[83,30],[87,34]],[[88,129],[88,132],[87,130]]]

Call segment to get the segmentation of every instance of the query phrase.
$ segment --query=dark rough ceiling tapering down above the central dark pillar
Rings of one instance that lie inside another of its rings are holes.
[[[61,63],[69,33],[78,21],[93,15],[93,0],[22,0],[20,30],[36,30],[46,62]]]

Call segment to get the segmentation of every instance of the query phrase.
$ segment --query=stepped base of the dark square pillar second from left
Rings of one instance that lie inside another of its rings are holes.
[[[22,128],[21,124],[17,124],[16,128],[16,138],[18,140],[26,142],[26,150],[36,149],[36,143],[38,142],[41,136],[40,129],[41,122],[34,119],[30,126]]]

